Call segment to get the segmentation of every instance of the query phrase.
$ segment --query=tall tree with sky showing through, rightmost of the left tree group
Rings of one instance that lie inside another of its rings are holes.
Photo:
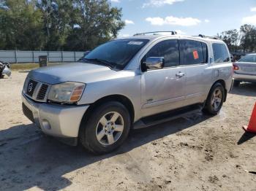
[[[91,50],[98,44],[116,38],[124,27],[121,9],[108,0],[75,0],[73,17],[65,50]]]

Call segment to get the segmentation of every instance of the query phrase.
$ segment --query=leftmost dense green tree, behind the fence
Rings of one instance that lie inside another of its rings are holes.
[[[43,47],[42,14],[35,9],[35,1],[1,1],[0,38],[0,48],[5,50],[40,50]]]

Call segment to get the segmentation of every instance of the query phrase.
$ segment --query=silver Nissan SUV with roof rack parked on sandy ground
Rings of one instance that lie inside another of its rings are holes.
[[[131,128],[201,110],[218,114],[232,77],[219,39],[137,34],[102,44],[78,63],[30,71],[23,113],[44,133],[102,154]]]

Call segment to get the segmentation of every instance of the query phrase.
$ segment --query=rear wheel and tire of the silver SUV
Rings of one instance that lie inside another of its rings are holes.
[[[203,112],[207,114],[216,115],[222,109],[222,105],[225,99],[225,90],[222,84],[216,83],[211,87],[210,93],[206,100],[206,105],[203,108]]]

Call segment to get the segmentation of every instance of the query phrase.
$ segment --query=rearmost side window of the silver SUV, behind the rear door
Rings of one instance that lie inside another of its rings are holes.
[[[225,44],[212,44],[214,50],[214,63],[225,63],[230,61],[230,55],[227,52]]]

